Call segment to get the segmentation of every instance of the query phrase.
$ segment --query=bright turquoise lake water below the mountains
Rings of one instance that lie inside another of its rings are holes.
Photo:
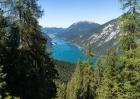
[[[61,61],[77,63],[85,59],[83,51],[60,38],[54,38],[52,56]]]

